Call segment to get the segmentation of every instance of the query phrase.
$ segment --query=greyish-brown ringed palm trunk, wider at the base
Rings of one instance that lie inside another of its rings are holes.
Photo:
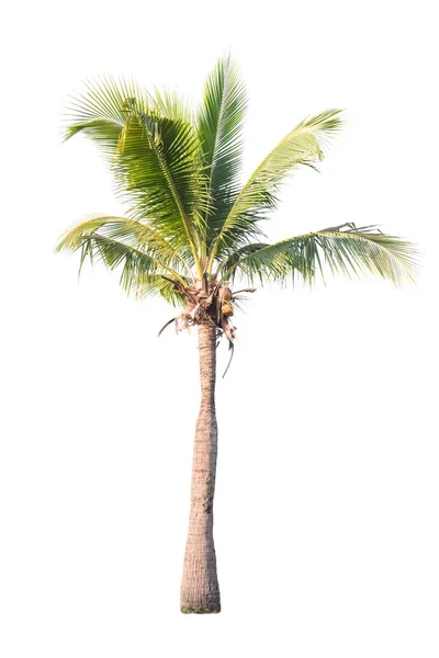
[[[213,543],[217,427],[215,415],[216,328],[199,325],[201,407],[193,446],[191,512],[180,606],[185,613],[219,612]]]

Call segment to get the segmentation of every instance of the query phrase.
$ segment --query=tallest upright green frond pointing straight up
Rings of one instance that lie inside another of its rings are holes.
[[[239,191],[243,121],[247,106],[237,65],[221,59],[204,86],[198,128],[212,205],[206,214],[206,251]]]

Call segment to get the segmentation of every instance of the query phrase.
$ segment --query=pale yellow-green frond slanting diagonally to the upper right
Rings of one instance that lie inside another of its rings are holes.
[[[215,240],[214,259],[233,246],[241,247],[258,235],[257,223],[277,206],[281,184],[300,166],[314,167],[323,159],[323,146],[340,127],[340,110],[328,110],[300,123],[262,160],[238,194]]]

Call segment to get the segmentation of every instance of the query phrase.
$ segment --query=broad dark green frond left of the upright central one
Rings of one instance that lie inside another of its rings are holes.
[[[207,205],[199,140],[190,124],[155,113],[126,124],[116,164],[131,213],[147,218],[177,246],[199,259],[199,219]]]

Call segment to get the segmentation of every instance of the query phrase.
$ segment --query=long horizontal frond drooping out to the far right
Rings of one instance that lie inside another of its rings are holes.
[[[346,228],[347,227],[347,228]],[[285,282],[299,274],[311,284],[325,266],[349,277],[371,273],[396,285],[413,281],[417,252],[406,240],[389,236],[374,226],[357,228],[353,224],[281,240],[273,245],[250,245],[237,259],[229,258],[222,277],[241,275],[249,282]]]

